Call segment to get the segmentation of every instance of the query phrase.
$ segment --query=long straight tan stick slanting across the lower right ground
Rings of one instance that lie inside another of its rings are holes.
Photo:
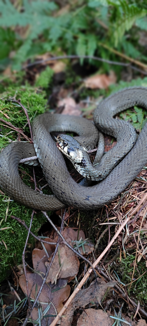
[[[102,254],[98,257],[98,259],[96,259],[96,261],[92,264],[93,268],[96,267],[96,265],[100,262],[100,260],[104,257],[104,255],[106,254],[106,252],[109,250],[109,248],[111,247],[111,245],[114,243],[114,241],[117,239],[118,235],[120,234],[120,232],[123,230],[124,226],[127,224],[127,222],[130,220],[130,218],[134,215],[134,213],[139,209],[140,205],[142,204],[142,202],[146,199],[147,197],[147,193],[146,195],[142,198],[142,200],[140,200],[139,204],[134,208],[133,211],[131,211],[131,215],[128,216],[126,218],[126,220],[123,222],[123,224],[120,226],[119,230],[117,230],[116,234],[114,235],[114,237],[112,238],[112,240],[110,241],[110,243],[106,246],[105,250],[102,252]],[[79,290],[81,289],[81,287],[84,285],[84,283],[87,281],[88,277],[90,276],[92,272],[92,268],[90,268],[87,273],[85,274],[85,276],[83,277],[83,279],[81,280],[81,282],[78,284],[78,286],[76,287],[76,289],[74,290],[74,292],[72,293],[72,295],[70,296],[70,298],[67,300],[66,304],[64,305],[64,307],[61,309],[61,311],[58,313],[58,315],[56,316],[55,320],[51,323],[50,326],[55,326],[57,324],[57,321],[62,317],[62,315],[64,314],[64,312],[66,311],[67,307],[71,304],[72,300],[74,299],[75,295],[79,292]]]

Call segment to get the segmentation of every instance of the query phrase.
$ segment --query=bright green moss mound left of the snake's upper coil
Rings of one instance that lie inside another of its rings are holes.
[[[22,104],[28,111],[30,121],[34,119],[36,114],[44,112],[46,104],[45,92],[41,90],[39,91],[37,88],[30,86],[21,86],[18,88],[9,86],[7,92],[1,94],[0,110],[3,113],[0,112],[0,118],[10,122],[13,126],[24,129],[27,119],[23,109],[17,103],[7,101],[7,99],[12,97],[21,99]],[[7,115],[9,119],[7,118]],[[0,122],[0,150],[2,147],[8,145],[9,139],[15,141],[17,137],[17,132],[3,125],[6,124]],[[28,126],[25,127],[25,134],[30,136]]]

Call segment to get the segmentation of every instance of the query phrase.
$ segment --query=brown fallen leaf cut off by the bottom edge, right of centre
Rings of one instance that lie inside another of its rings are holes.
[[[77,326],[112,326],[114,320],[101,309],[86,309],[77,321]]]

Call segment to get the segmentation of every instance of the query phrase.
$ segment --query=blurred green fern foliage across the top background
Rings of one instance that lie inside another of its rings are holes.
[[[2,0],[0,6],[1,69],[12,63],[12,68],[19,70],[28,58],[45,52],[119,61],[103,44],[147,61],[145,49],[138,43],[140,29],[147,30],[145,0],[67,1],[62,8],[47,0],[13,3]],[[101,67],[107,69],[106,64],[101,63]]]

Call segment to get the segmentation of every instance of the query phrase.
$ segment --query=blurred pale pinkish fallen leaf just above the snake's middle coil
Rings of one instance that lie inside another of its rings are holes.
[[[62,114],[68,115],[81,115],[79,105],[76,104],[75,100],[72,97],[67,97],[62,100],[59,100],[57,103],[58,108],[64,107]]]

